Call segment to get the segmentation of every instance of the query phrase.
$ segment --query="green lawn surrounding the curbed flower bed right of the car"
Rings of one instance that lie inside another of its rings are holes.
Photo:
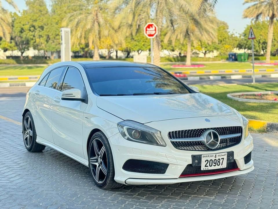
[[[209,95],[225,104],[235,108],[242,115],[249,119],[278,122],[277,103],[252,103],[239,102],[227,97],[228,93],[244,91],[278,91],[278,83],[271,84],[249,84],[231,86],[195,85],[201,93]]]

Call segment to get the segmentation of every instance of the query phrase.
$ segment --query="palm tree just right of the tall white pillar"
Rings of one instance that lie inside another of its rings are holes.
[[[71,11],[63,21],[63,24],[72,30],[72,44],[89,43],[89,48],[94,46],[93,60],[99,60],[98,48],[100,38],[107,36],[110,30],[109,0],[80,0],[70,4]]]

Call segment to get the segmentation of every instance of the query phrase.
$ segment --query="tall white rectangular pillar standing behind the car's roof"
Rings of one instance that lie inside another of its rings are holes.
[[[61,62],[71,61],[70,28],[61,28]]]

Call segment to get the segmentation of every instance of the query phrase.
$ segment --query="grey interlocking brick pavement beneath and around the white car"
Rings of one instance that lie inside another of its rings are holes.
[[[0,115],[20,121],[24,101],[0,98]],[[255,170],[249,174],[101,190],[91,180],[88,168],[71,158],[50,148],[28,152],[21,126],[0,118],[0,209],[278,208],[278,135],[253,136]]]

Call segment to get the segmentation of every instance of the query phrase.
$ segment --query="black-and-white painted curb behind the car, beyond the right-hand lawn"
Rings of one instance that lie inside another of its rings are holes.
[[[221,80],[221,79],[242,79],[252,78],[252,75],[211,75],[211,76],[180,76],[175,75],[181,80]],[[278,78],[278,73],[255,75],[255,78]]]

